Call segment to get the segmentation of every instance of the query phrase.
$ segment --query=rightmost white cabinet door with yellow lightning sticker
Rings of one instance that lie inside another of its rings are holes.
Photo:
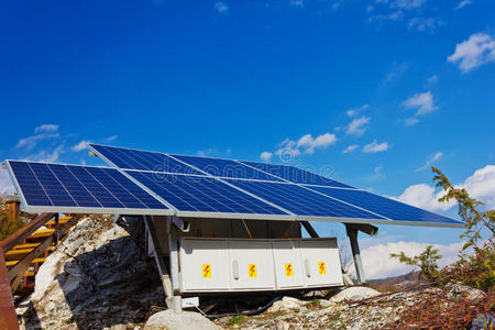
[[[301,240],[299,244],[306,286],[342,285],[336,239]]]

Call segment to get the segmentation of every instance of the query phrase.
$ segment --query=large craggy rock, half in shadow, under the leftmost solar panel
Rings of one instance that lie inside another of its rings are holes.
[[[36,274],[35,290],[20,307],[26,329],[102,329],[142,323],[163,305],[154,262],[139,246],[142,222],[112,217],[80,220]],[[132,328],[131,328],[132,329]]]

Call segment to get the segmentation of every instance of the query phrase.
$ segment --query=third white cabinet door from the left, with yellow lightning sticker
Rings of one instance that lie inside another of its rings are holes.
[[[299,242],[293,240],[273,241],[273,256],[277,288],[302,287]]]

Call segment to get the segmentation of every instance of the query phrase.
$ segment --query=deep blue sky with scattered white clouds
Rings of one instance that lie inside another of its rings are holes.
[[[480,0],[2,1],[0,158],[102,165],[87,141],[288,157],[455,216],[435,201],[435,165],[494,207],[494,12]],[[449,253],[459,233],[381,227],[362,245]]]

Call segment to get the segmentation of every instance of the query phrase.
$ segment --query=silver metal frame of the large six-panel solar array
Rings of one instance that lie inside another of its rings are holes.
[[[103,145],[103,146],[105,146],[105,145]],[[110,147],[111,147],[111,146],[110,146]],[[217,176],[212,176],[212,175],[210,175],[209,173],[207,173],[207,172],[205,172],[205,170],[201,170],[200,168],[197,168],[196,166],[193,166],[191,164],[188,164],[188,163],[186,163],[186,162],[184,162],[184,161],[182,161],[182,160],[175,158],[175,157],[174,157],[173,155],[170,155],[170,154],[163,153],[163,154],[165,154],[165,155],[167,155],[167,156],[169,156],[169,157],[172,157],[172,158],[174,158],[174,160],[176,160],[176,161],[178,161],[178,162],[180,162],[180,163],[184,163],[185,165],[187,165],[187,166],[194,168],[195,170],[198,170],[198,172],[205,174],[205,176],[209,176],[209,177],[212,177],[212,178],[215,178],[215,179],[217,179],[217,180],[220,180],[220,182],[222,182],[222,183],[224,183],[224,184],[231,185],[231,186],[233,186],[234,188],[241,190],[241,191],[244,193],[244,194],[251,195],[251,196],[257,198],[257,199],[261,200],[261,201],[267,202],[267,204],[270,204],[270,205],[272,205],[272,206],[274,206],[274,207],[276,207],[276,208],[278,208],[278,209],[280,209],[280,210],[283,210],[283,211],[285,211],[285,212],[287,212],[287,213],[289,213],[289,216],[278,216],[278,215],[276,215],[276,216],[274,216],[274,215],[253,215],[253,213],[248,213],[248,215],[242,213],[242,215],[241,215],[241,213],[229,213],[229,212],[202,212],[202,211],[179,211],[179,210],[177,210],[176,208],[174,208],[169,202],[167,202],[165,199],[163,199],[163,198],[161,198],[160,196],[157,196],[153,190],[151,190],[151,189],[148,189],[147,187],[145,187],[144,184],[140,183],[139,180],[135,180],[135,179],[132,178],[130,175],[125,174],[125,170],[138,170],[138,169],[129,168],[129,169],[123,170],[122,168],[120,168],[119,166],[117,166],[114,163],[112,163],[110,160],[108,160],[105,155],[102,155],[100,152],[98,152],[96,148],[94,148],[94,147],[91,146],[91,144],[89,144],[89,148],[90,148],[96,155],[98,155],[98,156],[101,157],[105,162],[107,162],[109,165],[116,167],[116,168],[119,169],[121,173],[123,173],[128,178],[130,178],[131,180],[133,180],[136,185],[139,185],[141,188],[143,188],[146,193],[151,194],[153,197],[155,197],[155,198],[158,199],[160,201],[162,201],[162,202],[166,204],[168,207],[173,208],[173,209],[175,210],[175,216],[177,216],[177,217],[184,217],[184,218],[222,218],[222,219],[257,219],[257,220],[322,221],[322,222],[345,222],[345,223],[374,223],[374,224],[393,224],[393,226],[415,226],[415,227],[465,228],[465,224],[462,223],[462,222],[460,222],[460,221],[459,221],[459,224],[455,224],[455,223],[447,223],[447,222],[439,223],[439,222],[426,222],[426,221],[421,221],[421,222],[418,221],[418,222],[415,222],[415,221],[393,220],[393,219],[389,219],[389,218],[387,218],[387,217],[385,217],[385,216],[380,215],[378,212],[373,212],[373,211],[367,210],[367,209],[365,209],[365,208],[361,208],[361,207],[355,206],[355,205],[352,205],[352,204],[350,204],[350,202],[346,202],[346,201],[343,201],[343,200],[340,200],[340,199],[330,197],[330,196],[328,196],[328,195],[326,195],[326,194],[322,194],[322,193],[320,193],[320,191],[310,189],[310,186],[320,186],[320,185],[293,183],[293,182],[290,182],[290,180],[288,180],[288,179],[286,179],[286,178],[279,177],[279,176],[277,176],[277,175],[275,175],[275,174],[271,174],[271,173],[264,172],[264,170],[262,170],[262,169],[260,169],[260,168],[256,168],[256,167],[254,167],[254,166],[251,166],[250,164],[245,164],[245,163],[242,162],[242,161],[229,160],[229,161],[234,161],[234,162],[241,163],[242,165],[252,167],[252,168],[254,168],[254,169],[256,169],[256,170],[263,172],[263,173],[265,173],[265,174],[268,174],[268,175],[272,175],[272,176],[274,176],[274,177],[277,177],[277,178],[282,179],[282,182],[270,182],[270,183],[276,183],[276,184],[286,184],[286,185],[295,185],[295,186],[299,186],[299,187],[309,189],[309,190],[311,190],[311,191],[314,191],[314,193],[317,193],[317,194],[319,194],[319,195],[322,195],[322,196],[324,196],[324,197],[327,197],[327,198],[329,198],[329,199],[338,200],[338,201],[340,201],[340,202],[342,202],[342,204],[344,204],[344,205],[349,205],[349,206],[352,206],[352,207],[354,207],[354,208],[365,210],[365,211],[367,211],[367,212],[370,212],[370,213],[377,215],[377,216],[380,216],[380,217],[382,217],[382,218],[384,218],[384,219],[361,219],[361,218],[340,218],[340,217],[319,217],[319,216],[301,216],[301,215],[296,215],[296,213],[290,212],[290,211],[286,210],[285,208],[280,207],[280,206],[278,206],[278,205],[276,205],[276,204],[274,204],[274,202],[271,202],[271,201],[268,201],[268,200],[265,200],[264,198],[262,198],[262,197],[260,197],[260,196],[256,196],[255,194],[251,194],[251,193],[249,193],[249,191],[246,191],[246,190],[244,190],[244,189],[242,189],[242,188],[240,188],[240,187],[238,187],[238,186],[235,186],[235,185],[233,185],[233,184],[227,182],[227,179],[242,179],[242,180],[248,180],[248,182],[267,182],[267,180],[246,179],[246,178],[229,178],[229,177],[217,177]],[[127,147],[122,147],[122,148],[127,148]],[[135,150],[135,148],[128,148],[128,150],[140,151],[140,150]],[[144,152],[144,151],[143,151],[143,152]],[[143,172],[153,172],[153,170],[143,170]],[[156,172],[156,173],[167,173],[167,172]],[[176,173],[170,173],[170,174],[176,174]],[[193,174],[182,174],[182,175],[194,176]],[[327,187],[327,188],[330,187],[330,188],[336,188],[336,189],[362,190],[362,189],[358,189],[358,188],[353,188],[353,187],[331,187],[331,186],[321,186],[321,187]],[[362,190],[362,191],[364,191],[364,190]],[[451,219],[451,220],[453,220],[453,219]],[[457,221],[457,220],[454,220],[454,221]]]

